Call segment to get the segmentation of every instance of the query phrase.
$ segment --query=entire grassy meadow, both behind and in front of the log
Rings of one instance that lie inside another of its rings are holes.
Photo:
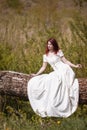
[[[1,0],[0,70],[36,73],[46,42],[53,37],[65,57],[82,64],[73,70],[87,77],[87,0]],[[48,65],[44,73],[52,68]],[[10,101],[9,101],[10,99]],[[0,130],[86,130],[87,105],[69,118],[41,118],[19,98],[0,96]]]

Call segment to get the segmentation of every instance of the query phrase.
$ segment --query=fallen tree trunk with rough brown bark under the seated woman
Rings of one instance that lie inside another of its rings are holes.
[[[16,96],[28,100],[27,83],[30,75],[14,71],[0,71],[0,94]],[[79,103],[87,104],[87,78],[79,78]]]

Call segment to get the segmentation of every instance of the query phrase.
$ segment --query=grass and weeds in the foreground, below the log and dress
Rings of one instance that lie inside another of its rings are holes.
[[[33,112],[29,102],[12,97],[4,99],[6,107],[4,106],[0,113],[1,130],[86,130],[87,128],[85,104],[79,105],[77,111],[68,118],[41,118]]]

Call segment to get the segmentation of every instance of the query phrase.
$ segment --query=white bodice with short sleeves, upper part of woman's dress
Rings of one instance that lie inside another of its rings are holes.
[[[55,64],[59,61],[61,61],[61,57],[64,56],[62,50],[59,50],[57,54],[54,54],[52,56],[47,56],[46,54],[43,55],[43,62],[49,63],[52,68],[55,67]]]

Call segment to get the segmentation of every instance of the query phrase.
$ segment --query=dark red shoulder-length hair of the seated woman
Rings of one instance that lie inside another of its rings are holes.
[[[59,51],[60,48],[59,48],[57,41],[54,38],[50,38],[50,39],[47,40],[46,54],[49,53],[48,42],[50,42],[53,45],[54,52],[55,52],[55,54],[57,54],[57,52]]]

